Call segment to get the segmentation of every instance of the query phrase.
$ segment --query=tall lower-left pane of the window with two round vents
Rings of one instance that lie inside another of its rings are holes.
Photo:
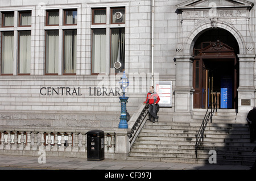
[[[92,32],[92,73],[106,72],[106,29]]]

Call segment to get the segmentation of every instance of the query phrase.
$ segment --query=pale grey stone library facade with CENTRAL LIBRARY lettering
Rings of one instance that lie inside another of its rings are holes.
[[[210,73],[221,67],[232,69],[229,108],[244,122],[255,106],[253,3],[1,0],[0,125],[117,128],[123,70],[131,116],[154,75],[154,85],[172,82],[172,105],[161,108],[162,120],[192,121],[193,111],[207,108],[210,89],[221,91],[220,83],[204,85],[222,80]]]

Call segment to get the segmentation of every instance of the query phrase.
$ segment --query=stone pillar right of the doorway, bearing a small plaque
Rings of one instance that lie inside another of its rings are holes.
[[[254,62],[255,54],[238,54],[239,87],[238,113],[248,113],[255,106]]]

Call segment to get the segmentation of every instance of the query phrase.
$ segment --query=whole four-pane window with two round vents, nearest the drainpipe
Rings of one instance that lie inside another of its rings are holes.
[[[91,73],[107,73],[111,69],[122,72],[125,69],[125,8],[92,9],[91,28]]]

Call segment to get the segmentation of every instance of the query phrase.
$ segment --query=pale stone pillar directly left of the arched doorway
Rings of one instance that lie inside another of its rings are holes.
[[[177,113],[182,112],[182,115],[176,116],[176,119],[179,117],[179,120],[190,120],[190,112],[193,111],[193,60],[194,57],[191,55],[175,56],[176,85],[174,87],[174,110]]]

